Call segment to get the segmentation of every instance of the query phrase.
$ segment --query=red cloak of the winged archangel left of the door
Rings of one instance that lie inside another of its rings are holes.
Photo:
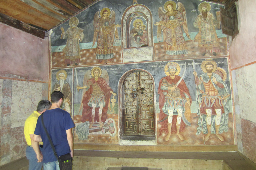
[[[88,80],[88,82],[91,81],[92,84],[95,84],[95,78],[91,78],[90,80]],[[103,94],[105,95],[105,107],[103,107],[102,109],[102,117],[101,117],[101,122],[105,122],[107,119],[107,111],[108,111],[108,101],[109,98],[111,97],[111,91],[113,91],[109,85],[107,85],[106,81],[99,77],[98,81],[97,81],[100,89],[102,90]],[[85,122],[85,121],[92,121],[92,107],[88,106],[88,102],[91,98],[91,94],[92,94],[92,86],[90,86],[90,88],[88,89],[88,91],[85,92],[84,96],[83,96],[83,111],[82,111],[82,117],[81,117],[81,121]],[[94,117],[94,122],[99,122],[99,108],[95,108],[95,117]]]

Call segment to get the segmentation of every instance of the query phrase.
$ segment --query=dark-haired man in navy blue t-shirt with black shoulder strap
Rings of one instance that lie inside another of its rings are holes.
[[[58,157],[70,153],[73,157],[72,128],[75,126],[70,114],[60,106],[63,102],[63,93],[54,91],[51,94],[52,106],[43,113],[45,127],[50,135]],[[42,115],[38,117],[34,132],[34,141],[43,141],[44,170],[59,170],[59,162],[54,155],[49,139],[42,125]]]

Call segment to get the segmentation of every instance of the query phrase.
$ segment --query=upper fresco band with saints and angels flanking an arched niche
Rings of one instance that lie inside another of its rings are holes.
[[[52,29],[52,68],[227,55],[219,4],[99,0]]]

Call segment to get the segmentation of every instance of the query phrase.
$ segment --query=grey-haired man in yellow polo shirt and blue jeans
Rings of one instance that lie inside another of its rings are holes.
[[[34,142],[33,136],[38,117],[51,107],[49,100],[41,100],[36,111],[34,111],[25,121],[24,134],[27,141],[26,157],[29,160],[29,170],[41,170],[43,166],[43,155],[41,149],[43,142]]]

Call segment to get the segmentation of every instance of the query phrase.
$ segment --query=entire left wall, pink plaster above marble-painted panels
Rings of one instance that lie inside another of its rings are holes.
[[[48,38],[0,23],[0,165],[25,156],[24,123],[48,99]]]

